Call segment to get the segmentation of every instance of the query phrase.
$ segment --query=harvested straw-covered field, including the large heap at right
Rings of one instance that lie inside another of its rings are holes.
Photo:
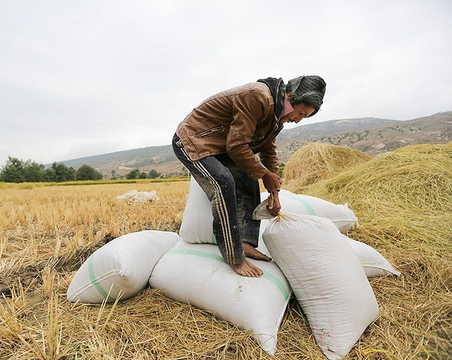
[[[114,200],[131,189],[160,200]],[[271,359],[249,332],[158,290],[115,304],[67,301],[75,271],[109,238],[177,230],[187,191],[186,182],[0,189],[0,358]],[[402,272],[371,279],[381,316],[347,359],[450,358],[452,144],[380,155],[304,193],[349,203],[360,220],[349,236]],[[325,359],[294,300],[273,359]]]

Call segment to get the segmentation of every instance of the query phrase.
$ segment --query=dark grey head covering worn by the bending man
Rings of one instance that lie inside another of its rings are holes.
[[[303,103],[315,109],[308,117],[315,115],[320,110],[325,91],[326,82],[317,75],[299,76],[289,80],[286,85],[286,93],[291,94],[290,103],[292,106]]]

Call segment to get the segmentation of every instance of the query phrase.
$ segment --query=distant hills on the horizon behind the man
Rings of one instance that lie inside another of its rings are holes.
[[[449,141],[452,141],[452,111],[407,121],[377,118],[330,120],[285,129],[277,138],[278,156],[284,163],[309,142],[331,143],[376,155],[406,145]],[[184,172],[171,145],[118,151],[63,163],[75,169],[83,164],[91,165],[107,178],[111,177],[112,171],[124,175],[133,169],[156,170],[165,175]]]

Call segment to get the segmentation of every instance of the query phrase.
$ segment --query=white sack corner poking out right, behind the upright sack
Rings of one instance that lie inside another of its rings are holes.
[[[361,265],[368,278],[387,275],[400,275],[400,271],[396,270],[386,258],[381,255],[372,246],[363,242],[352,240],[345,235],[353,251],[358,255]]]

